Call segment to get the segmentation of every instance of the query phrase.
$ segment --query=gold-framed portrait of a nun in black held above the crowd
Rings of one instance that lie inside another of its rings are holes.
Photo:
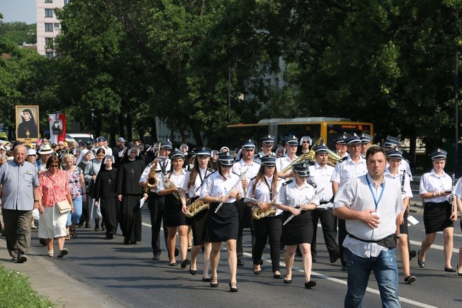
[[[15,106],[16,139],[39,139],[39,106]]]

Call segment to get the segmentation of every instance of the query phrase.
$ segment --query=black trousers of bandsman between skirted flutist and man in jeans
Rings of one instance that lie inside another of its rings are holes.
[[[323,228],[324,241],[326,243],[327,251],[329,256],[338,251],[338,244],[336,242],[337,230],[335,224],[335,216],[332,214],[332,208],[330,209],[315,209],[311,211],[311,219],[313,220],[314,232],[313,240],[311,241],[311,256],[316,258],[316,233],[318,230],[318,220],[321,222]]]

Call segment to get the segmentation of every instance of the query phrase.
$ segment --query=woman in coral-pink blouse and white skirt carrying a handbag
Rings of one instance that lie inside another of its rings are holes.
[[[47,171],[39,175],[39,238],[46,239],[50,257],[54,256],[53,238],[56,238],[59,249],[58,258],[63,258],[68,254],[68,249],[64,248],[68,213],[59,213],[55,203],[68,200],[70,213],[74,213],[74,205],[70,195],[68,174],[59,169],[59,165],[59,158],[53,155],[46,161]]]

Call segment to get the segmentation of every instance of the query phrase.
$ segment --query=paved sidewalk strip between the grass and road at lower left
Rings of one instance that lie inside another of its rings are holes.
[[[124,307],[117,299],[101,293],[96,287],[76,280],[61,271],[47,256],[38,256],[33,250],[25,263],[12,262],[6,249],[4,237],[0,238],[0,261],[6,269],[15,269],[30,278],[32,288],[39,294],[48,296],[57,307],[101,308]],[[25,294],[26,296],[26,294]]]

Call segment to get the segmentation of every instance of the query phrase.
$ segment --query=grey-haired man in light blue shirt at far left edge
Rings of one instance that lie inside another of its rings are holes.
[[[32,209],[38,207],[39,178],[35,166],[26,161],[26,146],[13,150],[13,160],[0,166],[1,206],[6,247],[12,260],[27,261],[30,248]]]

